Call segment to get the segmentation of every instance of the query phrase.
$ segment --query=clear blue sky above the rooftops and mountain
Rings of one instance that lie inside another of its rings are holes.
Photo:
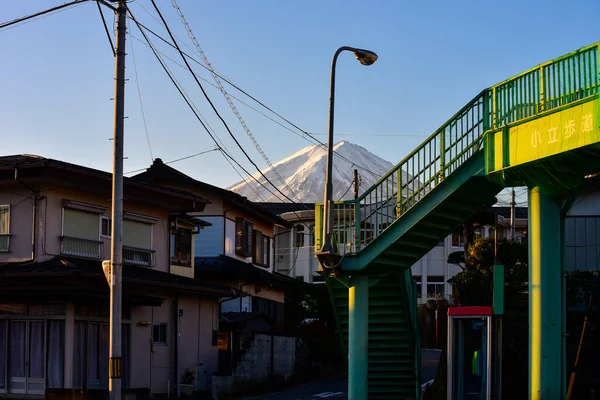
[[[192,46],[171,1],[156,1],[182,44]],[[62,2],[3,0],[0,22]],[[485,87],[600,41],[597,0],[179,0],[179,5],[217,71],[322,141],[333,53],[342,45],[377,52],[379,60],[370,67],[360,65],[351,53],[340,56],[336,141],[359,144],[392,163]],[[130,3],[140,22],[167,37],[153,19],[156,15],[142,6],[153,11],[150,0]],[[112,35],[113,16],[104,11]],[[151,162],[134,59],[154,157],[170,161],[212,149],[212,141],[148,47],[136,39],[141,38],[139,31],[128,23],[125,171]],[[181,62],[172,49],[154,43]],[[114,59],[96,4],[2,30],[0,49],[0,154],[39,154],[110,171]],[[256,172],[190,74],[171,61],[167,64],[229,151]],[[195,68],[213,82],[208,71]],[[264,168],[221,93],[202,83],[252,159]],[[309,144],[237,101],[236,106],[272,162]],[[222,187],[240,180],[217,152],[173,166]]]

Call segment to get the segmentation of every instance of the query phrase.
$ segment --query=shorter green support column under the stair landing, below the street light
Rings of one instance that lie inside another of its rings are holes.
[[[349,283],[348,400],[367,400],[369,277],[353,277]]]

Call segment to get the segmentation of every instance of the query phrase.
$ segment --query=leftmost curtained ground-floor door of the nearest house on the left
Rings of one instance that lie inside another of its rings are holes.
[[[45,321],[10,321],[8,392],[44,394]]]

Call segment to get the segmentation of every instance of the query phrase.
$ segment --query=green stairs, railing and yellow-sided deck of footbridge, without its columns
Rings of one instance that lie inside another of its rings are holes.
[[[485,89],[358,199],[333,205],[337,256],[317,256],[345,349],[349,278],[369,276],[368,399],[420,395],[412,265],[477,211],[493,205],[504,187],[531,176],[564,185],[569,180],[561,169],[565,158],[571,161],[571,177],[600,169],[600,129],[554,147],[533,142],[537,129],[548,129],[558,116],[560,124],[580,118],[582,132],[589,132],[583,122],[588,114],[600,119],[598,49],[598,43],[581,48]],[[315,217],[320,249],[322,204]]]

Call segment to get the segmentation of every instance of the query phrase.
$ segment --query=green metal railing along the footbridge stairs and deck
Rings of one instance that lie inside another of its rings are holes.
[[[373,242],[482,150],[487,131],[599,93],[599,47],[600,42],[581,48],[485,89],[358,199],[336,203],[334,219],[344,216],[332,225],[338,253],[356,253]],[[323,205],[316,207],[319,228]],[[321,235],[322,229],[316,229],[316,243]]]

